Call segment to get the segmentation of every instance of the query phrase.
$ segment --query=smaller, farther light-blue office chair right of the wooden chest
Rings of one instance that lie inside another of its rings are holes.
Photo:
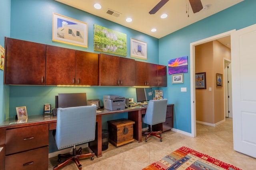
[[[150,135],[160,138],[162,142],[162,131],[152,131],[152,125],[165,122],[166,119],[166,109],[167,109],[167,99],[161,100],[150,100],[146,109],[146,114],[144,117],[144,123],[150,125],[149,132],[143,132],[146,134],[145,142],[147,142]],[[159,134],[159,135],[158,135]]]

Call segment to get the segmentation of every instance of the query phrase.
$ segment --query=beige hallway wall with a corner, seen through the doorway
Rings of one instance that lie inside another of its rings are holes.
[[[230,49],[215,40],[196,46],[195,54],[196,73],[206,72],[206,89],[196,89],[196,121],[215,124],[224,120],[224,84],[216,86],[216,73],[224,74]]]

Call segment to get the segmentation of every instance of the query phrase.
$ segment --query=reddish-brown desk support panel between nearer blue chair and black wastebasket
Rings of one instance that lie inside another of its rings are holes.
[[[97,115],[96,117],[96,129],[95,140],[89,143],[89,147],[92,152],[98,157],[102,156],[102,117]]]

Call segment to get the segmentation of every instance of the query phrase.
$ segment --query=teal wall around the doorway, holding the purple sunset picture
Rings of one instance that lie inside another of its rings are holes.
[[[170,59],[188,56],[188,70],[190,70],[190,43],[255,24],[255,8],[255,0],[244,0],[159,39],[159,64],[165,64]],[[183,84],[172,84],[171,75],[167,79],[168,88],[164,90],[167,94],[164,95],[168,96],[169,103],[175,104],[174,128],[191,133],[190,105],[193,101],[190,100],[190,71],[184,73]],[[180,92],[181,87],[186,87],[187,92]]]

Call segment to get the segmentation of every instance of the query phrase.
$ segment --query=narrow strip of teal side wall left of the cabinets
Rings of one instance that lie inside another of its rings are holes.
[[[10,36],[11,1],[0,0],[0,45],[4,47],[4,37]],[[4,71],[0,70],[0,122],[9,117],[9,86],[4,85]]]

